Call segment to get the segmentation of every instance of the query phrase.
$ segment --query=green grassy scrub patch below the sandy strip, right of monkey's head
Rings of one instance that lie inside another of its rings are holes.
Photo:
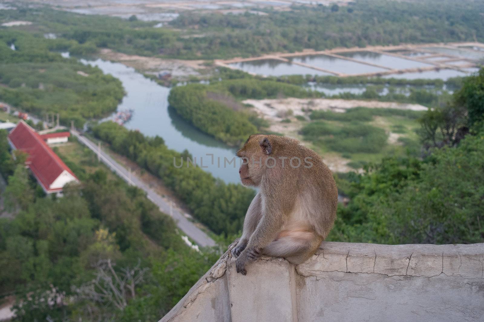
[[[417,155],[418,118],[422,112],[396,109],[348,109],[345,113],[313,111],[300,131],[318,153],[337,153],[360,169],[386,156]],[[392,136],[390,136],[392,134]]]

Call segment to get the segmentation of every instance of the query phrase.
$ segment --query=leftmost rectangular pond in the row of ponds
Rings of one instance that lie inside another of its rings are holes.
[[[255,73],[265,76],[333,75],[330,73],[319,71],[317,69],[291,64],[276,59],[259,59],[248,62],[232,63],[229,65],[248,73]]]

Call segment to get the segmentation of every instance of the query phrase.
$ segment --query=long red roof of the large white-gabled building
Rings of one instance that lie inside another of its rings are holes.
[[[49,187],[64,170],[77,179],[76,175],[52,151],[42,137],[24,121],[20,121],[17,124],[15,129],[8,135],[8,138],[15,149],[26,152],[29,155],[27,164],[45,192],[53,193],[62,190],[52,190]]]

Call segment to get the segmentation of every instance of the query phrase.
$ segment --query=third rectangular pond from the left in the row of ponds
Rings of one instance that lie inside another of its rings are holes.
[[[405,58],[379,54],[371,51],[345,52],[340,53],[339,55],[393,69],[407,69],[432,66],[432,64],[425,64]]]

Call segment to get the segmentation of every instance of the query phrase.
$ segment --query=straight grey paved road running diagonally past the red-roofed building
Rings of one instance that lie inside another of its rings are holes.
[[[96,155],[98,154],[98,146],[94,144],[91,140],[86,138],[85,136],[80,135],[77,131],[71,129],[71,133],[77,137],[79,142],[89,147]],[[126,170],[116,162],[113,158],[111,158],[108,154],[101,150],[100,153],[101,161],[103,161],[111,170],[116,172],[118,176],[124,179],[126,182],[131,183],[138,188],[144,190],[148,198],[158,207],[160,210],[166,214],[170,214],[170,205],[166,202],[158,193],[154,192],[148,185],[146,185],[139,177],[135,176],[134,174],[129,174],[129,171]],[[131,182],[130,182],[131,177]],[[188,235],[192,240],[194,240],[200,246],[215,246],[215,242],[200,228],[190,222],[178,209],[172,208],[171,215],[175,222],[177,223],[178,227]]]

